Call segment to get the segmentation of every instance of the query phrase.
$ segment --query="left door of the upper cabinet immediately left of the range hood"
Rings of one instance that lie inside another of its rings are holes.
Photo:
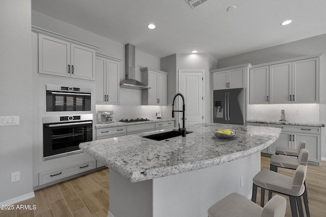
[[[96,57],[95,63],[95,102],[96,104],[106,104],[106,59]]]

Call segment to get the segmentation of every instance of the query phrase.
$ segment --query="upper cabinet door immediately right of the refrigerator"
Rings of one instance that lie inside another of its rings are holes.
[[[269,103],[269,67],[250,69],[250,104]]]

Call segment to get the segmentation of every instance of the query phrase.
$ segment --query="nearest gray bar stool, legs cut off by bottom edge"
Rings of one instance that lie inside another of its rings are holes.
[[[208,208],[208,217],[284,217],[286,199],[275,195],[264,208],[238,193],[232,193]]]

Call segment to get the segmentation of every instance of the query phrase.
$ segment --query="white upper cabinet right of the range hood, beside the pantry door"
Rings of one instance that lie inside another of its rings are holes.
[[[141,72],[142,82],[151,87],[142,90],[142,105],[167,105],[168,73],[149,67]]]

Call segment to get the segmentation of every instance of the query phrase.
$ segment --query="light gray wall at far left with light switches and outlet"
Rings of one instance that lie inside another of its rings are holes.
[[[0,115],[19,116],[19,125],[0,127],[0,204],[33,195],[31,0],[0,2]],[[11,173],[20,181],[11,183]]]

